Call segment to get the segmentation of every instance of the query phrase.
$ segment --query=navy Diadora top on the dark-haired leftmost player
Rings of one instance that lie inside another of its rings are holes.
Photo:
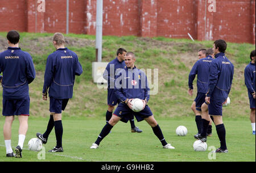
[[[0,53],[0,73],[3,73],[3,99],[25,99],[28,84],[35,79],[35,68],[29,53],[18,47],[8,47]]]

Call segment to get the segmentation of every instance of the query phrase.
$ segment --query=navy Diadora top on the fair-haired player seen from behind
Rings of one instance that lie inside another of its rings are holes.
[[[72,98],[75,75],[81,74],[82,66],[77,54],[68,48],[57,49],[47,58],[43,93],[46,93],[49,88],[50,97]]]

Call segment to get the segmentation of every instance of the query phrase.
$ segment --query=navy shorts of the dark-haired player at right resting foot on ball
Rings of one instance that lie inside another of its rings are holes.
[[[209,115],[222,116],[222,103],[225,102],[225,100],[225,98],[210,98],[210,104],[208,104]]]

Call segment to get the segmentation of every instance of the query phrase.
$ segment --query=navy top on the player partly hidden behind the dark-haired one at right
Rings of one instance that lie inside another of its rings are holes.
[[[188,77],[188,87],[193,90],[193,81],[197,74],[197,92],[207,93],[208,91],[208,82],[209,82],[209,74],[210,74],[210,62],[212,62],[213,58],[211,56],[207,56],[205,58],[201,58],[196,61],[195,65],[193,65],[189,77]]]

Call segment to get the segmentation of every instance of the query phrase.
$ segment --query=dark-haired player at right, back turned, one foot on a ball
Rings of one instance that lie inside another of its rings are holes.
[[[222,105],[226,103],[231,90],[234,66],[225,56],[225,50],[226,42],[224,40],[214,41],[213,52],[215,59],[210,63],[208,92],[205,97],[205,102],[209,104],[209,115],[213,116],[218,138],[220,139],[221,146],[214,151],[215,153],[228,153],[226,147],[226,130],[222,121]],[[197,136],[203,142],[207,141],[206,134],[210,122],[209,115],[202,115],[203,130]]]

